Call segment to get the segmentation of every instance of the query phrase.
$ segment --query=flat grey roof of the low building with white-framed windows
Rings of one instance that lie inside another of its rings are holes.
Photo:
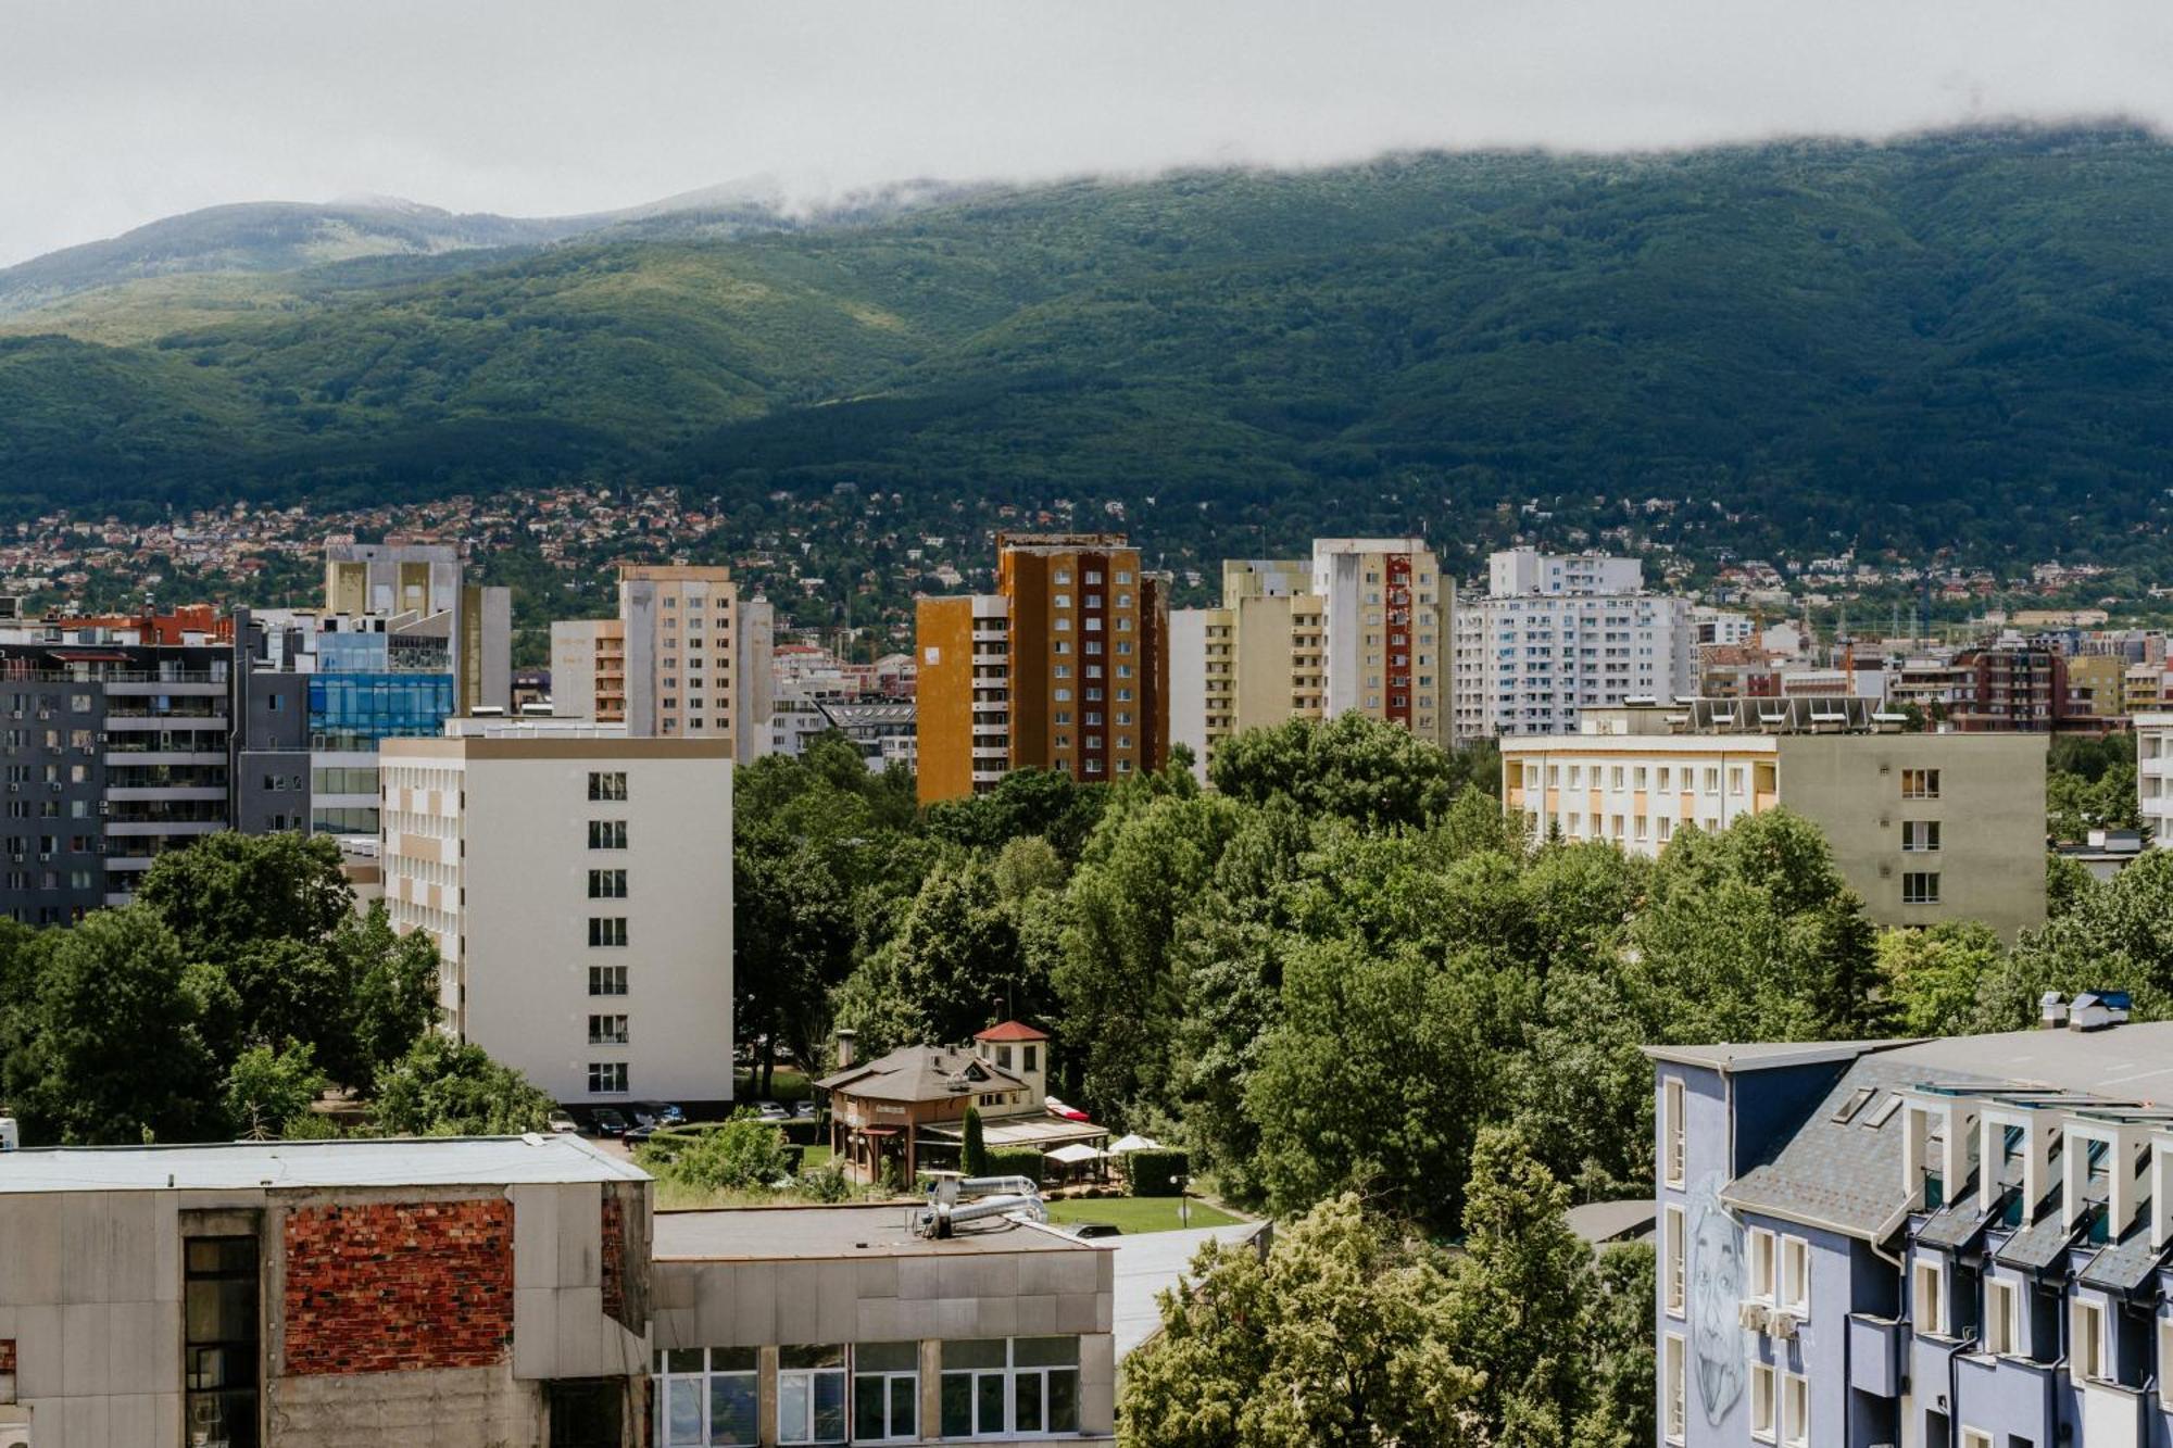
[[[804,1257],[924,1257],[930,1252],[1071,1252],[1106,1246],[1004,1218],[960,1222],[956,1237],[915,1237],[919,1202],[847,1207],[721,1207],[658,1211],[656,1261],[774,1261]]]

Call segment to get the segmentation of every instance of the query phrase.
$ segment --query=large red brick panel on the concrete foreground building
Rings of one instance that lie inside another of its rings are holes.
[[[287,1215],[287,1372],[487,1368],[513,1341],[513,1202]]]

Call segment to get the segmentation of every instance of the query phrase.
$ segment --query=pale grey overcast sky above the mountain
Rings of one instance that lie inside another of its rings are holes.
[[[2173,128],[2173,0],[0,0],[0,265],[233,200]]]

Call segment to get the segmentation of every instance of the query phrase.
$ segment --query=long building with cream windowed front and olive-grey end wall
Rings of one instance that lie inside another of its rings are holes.
[[[1502,741],[1502,800],[1636,854],[1784,804],[1880,924],[2045,924],[2043,735],[1912,735],[1854,698],[1586,709],[1575,735]]]

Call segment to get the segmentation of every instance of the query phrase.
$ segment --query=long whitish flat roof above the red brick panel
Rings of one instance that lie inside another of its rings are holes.
[[[0,1191],[276,1191],[650,1181],[574,1135],[50,1146],[0,1152]]]

